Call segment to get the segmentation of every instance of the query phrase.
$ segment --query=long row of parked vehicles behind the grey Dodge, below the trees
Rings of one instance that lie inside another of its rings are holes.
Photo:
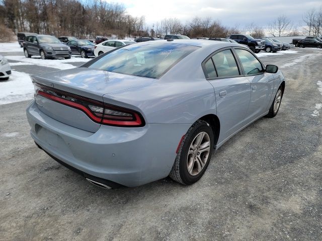
[[[51,35],[39,35],[33,33],[18,33],[18,41],[21,47],[24,48],[26,58],[32,55],[40,55],[42,59],[63,57],[69,59],[71,55],[81,55],[83,58],[96,57],[104,54],[114,48],[124,45],[162,40],[150,36],[143,36],[131,40],[118,40],[114,38],[97,36],[93,40],[78,40],[75,37],[60,36],[58,38]],[[163,39],[190,39],[184,35],[166,35]],[[232,34],[229,38],[195,38],[214,41],[225,41],[243,44],[255,53],[260,51],[277,52],[287,50],[291,46],[288,43],[282,43],[274,38],[259,38],[255,39],[250,35]],[[294,43],[296,42],[296,43]],[[307,37],[306,39],[293,39],[293,43],[298,47],[322,47],[322,40],[316,37]]]

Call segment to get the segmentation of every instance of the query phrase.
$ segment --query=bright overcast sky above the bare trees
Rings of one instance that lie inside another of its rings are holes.
[[[283,14],[297,25],[305,12],[322,6],[321,0],[118,0],[117,2],[123,3],[132,16],[144,15],[148,25],[164,18],[177,18],[185,23],[186,20],[198,16],[212,17],[230,27],[236,24],[243,27],[252,22],[265,27],[268,22]]]

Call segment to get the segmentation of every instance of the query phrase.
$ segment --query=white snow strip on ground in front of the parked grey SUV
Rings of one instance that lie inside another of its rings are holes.
[[[19,63],[35,64],[45,67],[51,67],[56,69],[71,69],[75,66],[68,64],[69,62],[87,62],[90,59],[71,57],[70,59],[41,59],[40,57],[32,56],[32,58],[26,58],[25,56],[6,56],[9,60],[19,61]],[[10,65],[15,63],[10,63]],[[16,63],[17,64],[17,63]]]

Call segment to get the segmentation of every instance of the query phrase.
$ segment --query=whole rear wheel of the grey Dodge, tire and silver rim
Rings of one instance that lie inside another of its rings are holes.
[[[213,151],[213,131],[198,120],[185,135],[169,176],[182,184],[197,182],[205,173]]]

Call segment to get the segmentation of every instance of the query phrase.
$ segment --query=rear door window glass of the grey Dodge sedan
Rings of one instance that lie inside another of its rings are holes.
[[[230,49],[223,50],[212,56],[218,77],[229,77],[239,75],[236,60]]]

